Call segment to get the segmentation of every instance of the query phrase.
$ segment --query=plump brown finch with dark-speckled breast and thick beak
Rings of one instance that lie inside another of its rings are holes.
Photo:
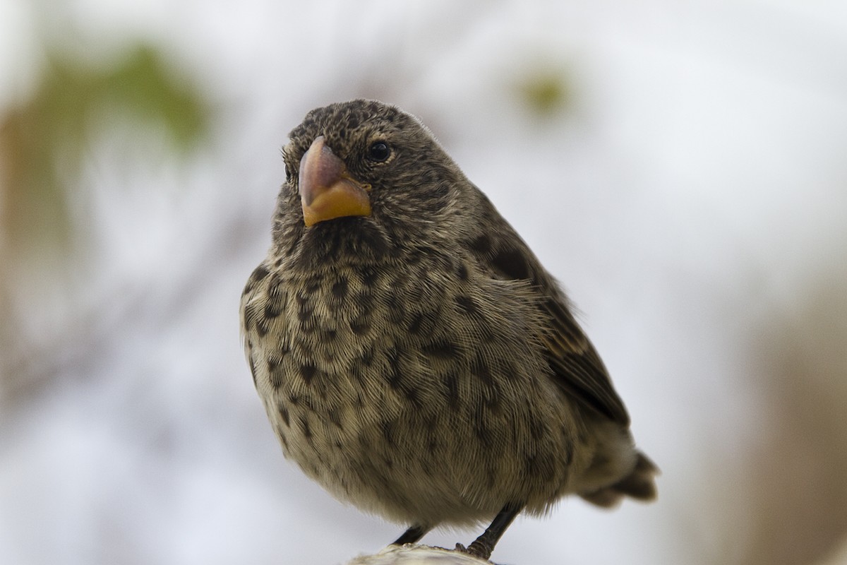
[[[656,498],[569,298],[418,118],[331,103],[283,157],[241,333],[285,457],[397,545],[489,524],[483,559],[563,496]]]

